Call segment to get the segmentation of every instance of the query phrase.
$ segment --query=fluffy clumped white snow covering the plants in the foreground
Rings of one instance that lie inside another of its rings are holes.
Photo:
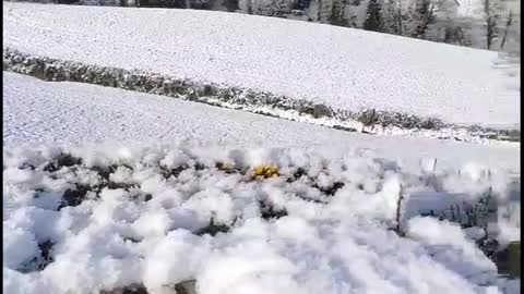
[[[63,152],[82,164],[49,169]],[[182,171],[163,174],[175,157]],[[434,187],[424,181],[424,171],[407,173],[369,155],[347,152],[341,160],[307,148],[171,143],[4,147],[3,158],[8,293],[84,294],[143,284],[148,293],[174,294],[175,284],[192,280],[199,294],[520,291],[497,278],[496,266],[456,223],[414,216],[405,237],[390,230],[396,207],[388,199],[398,197],[398,185],[407,199]],[[236,162],[247,172],[226,173],[215,168],[218,161]],[[279,176],[251,177],[260,162],[278,167]],[[99,172],[112,164],[118,168],[109,175]],[[295,179],[298,168],[311,177]],[[314,187],[320,173],[324,184],[344,186],[321,195]],[[453,169],[436,176],[457,182],[444,186],[446,193],[465,189],[471,199],[490,186],[504,198],[509,180],[493,172],[478,183]],[[374,189],[359,188],[359,177]],[[111,188],[107,179],[132,186]],[[88,182],[107,186],[98,193],[90,187],[97,196],[79,196],[79,203],[62,197]],[[305,198],[305,189],[317,196]],[[286,213],[263,217],[267,207],[260,201]],[[228,231],[196,233],[212,217]],[[45,242],[52,244],[50,262],[43,261]]]

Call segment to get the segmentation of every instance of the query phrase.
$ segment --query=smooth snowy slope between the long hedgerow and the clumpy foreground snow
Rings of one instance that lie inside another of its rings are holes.
[[[520,171],[520,145],[488,146],[415,137],[382,137],[278,120],[162,96],[78,83],[49,83],[3,72],[3,144],[82,145],[195,139],[237,147],[308,147],[326,156],[368,149],[418,168],[468,162]]]

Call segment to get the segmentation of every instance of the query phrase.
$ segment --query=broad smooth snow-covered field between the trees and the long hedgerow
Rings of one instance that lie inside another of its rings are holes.
[[[495,69],[496,52],[192,10],[7,2],[3,25],[4,48],[25,53],[271,91],[342,110],[520,125],[520,90],[509,88],[517,77]]]

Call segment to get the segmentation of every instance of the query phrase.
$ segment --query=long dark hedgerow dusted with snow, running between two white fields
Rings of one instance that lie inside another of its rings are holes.
[[[439,138],[520,140],[520,131],[454,126],[436,118],[420,118],[408,113],[374,109],[358,111],[333,109],[310,100],[291,99],[266,91],[202,84],[154,73],[29,56],[9,48],[3,49],[3,69],[45,81],[71,81],[118,87],[278,118],[289,118],[293,113],[300,120],[313,121],[350,132],[409,133],[413,135],[415,132],[424,133],[428,130],[434,132],[434,136]],[[427,136],[425,133],[422,135]]]

